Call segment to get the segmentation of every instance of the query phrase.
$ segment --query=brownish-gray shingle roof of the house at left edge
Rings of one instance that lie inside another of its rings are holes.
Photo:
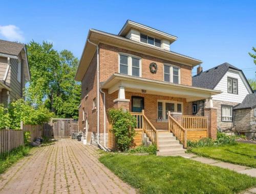
[[[0,40],[0,53],[17,56],[24,48],[24,46],[24,44],[20,44],[17,42]]]

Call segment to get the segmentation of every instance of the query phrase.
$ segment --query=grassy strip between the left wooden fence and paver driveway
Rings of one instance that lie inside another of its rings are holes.
[[[2,153],[0,155],[0,174],[3,174],[12,164],[27,156],[31,148],[30,146],[19,146],[11,152]]]

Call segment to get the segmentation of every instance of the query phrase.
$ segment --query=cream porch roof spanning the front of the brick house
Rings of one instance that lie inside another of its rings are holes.
[[[134,77],[119,73],[113,74],[101,85],[102,89],[108,89],[109,94],[119,90],[120,87],[125,88],[127,92],[186,98],[187,102],[211,98],[212,95],[221,93],[219,90],[197,88],[189,85]]]

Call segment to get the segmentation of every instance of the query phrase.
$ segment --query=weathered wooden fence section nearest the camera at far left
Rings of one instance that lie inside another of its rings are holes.
[[[0,153],[24,145],[23,130],[0,130]]]

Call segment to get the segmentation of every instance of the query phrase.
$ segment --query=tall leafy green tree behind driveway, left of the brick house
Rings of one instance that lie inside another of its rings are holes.
[[[45,104],[59,117],[77,118],[81,87],[74,77],[79,60],[68,50],[58,53],[46,41],[31,41],[27,48],[31,72],[27,100]]]

